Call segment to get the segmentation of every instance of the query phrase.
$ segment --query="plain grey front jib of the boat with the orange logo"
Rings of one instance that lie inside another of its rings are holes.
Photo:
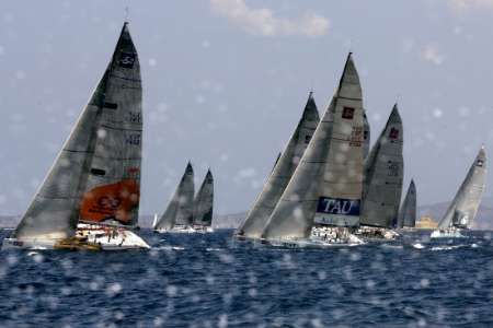
[[[74,234],[79,218],[78,204],[94,153],[105,77],[83,108],[12,237],[55,243]]]

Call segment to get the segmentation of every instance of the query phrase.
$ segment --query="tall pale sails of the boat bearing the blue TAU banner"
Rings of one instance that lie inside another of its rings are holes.
[[[318,224],[359,222],[363,101],[348,55],[339,87],[264,229],[265,238],[302,238]]]

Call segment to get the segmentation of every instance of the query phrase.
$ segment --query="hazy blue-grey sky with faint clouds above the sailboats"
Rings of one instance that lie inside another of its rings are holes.
[[[26,209],[126,17],[144,83],[142,214],[164,211],[188,160],[196,188],[211,168],[217,213],[248,210],[310,90],[325,110],[348,51],[372,137],[399,103],[419,204],[450,199],[481,144],[493,152],[493,0],[4,0],[0,214]]]

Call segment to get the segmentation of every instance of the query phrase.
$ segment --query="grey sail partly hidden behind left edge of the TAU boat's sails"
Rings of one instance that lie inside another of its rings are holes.
[[[305,150],[319,122],[319,112],[310,92],[305,110],[286,149],[276,161],[267,181],[259,198],[250,210],[243,223],[237,230],[238,235],[250,238],[260,238],[262,231],[277,204],[283,191],[286,189]]]

